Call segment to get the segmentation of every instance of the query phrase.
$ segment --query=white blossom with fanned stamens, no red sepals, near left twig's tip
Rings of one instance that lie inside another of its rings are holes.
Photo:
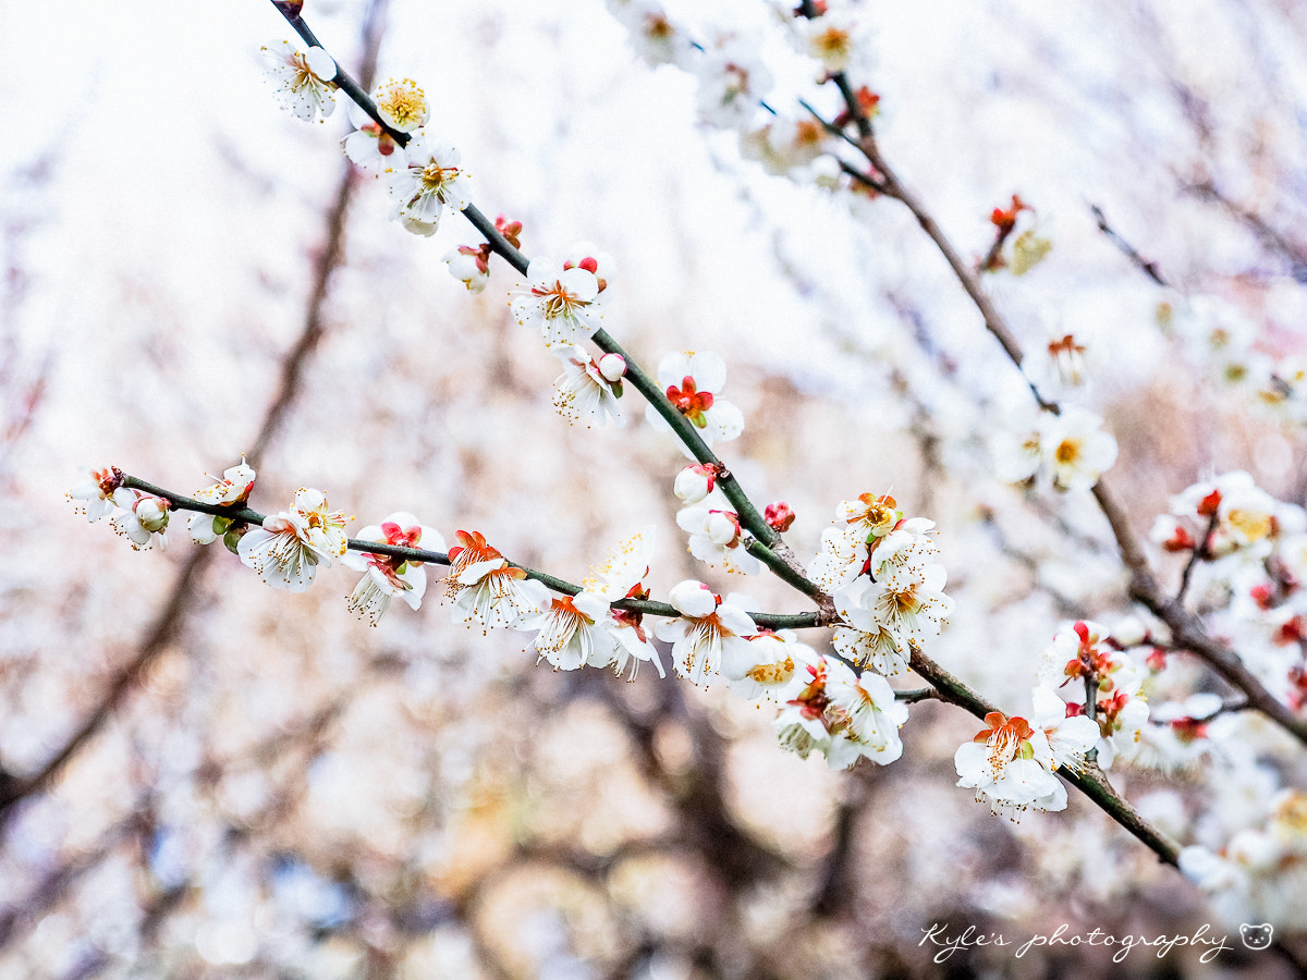
[[[290,510],[246,532],[237,554],[272,588],[303,592],[312,584],[318,566],[329,566],[345,549],[345,515],[327,510],[322,490],[301,487]]]

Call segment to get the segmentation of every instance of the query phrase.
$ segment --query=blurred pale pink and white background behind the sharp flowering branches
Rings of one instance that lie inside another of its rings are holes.
[[[703,7],[670,9],[704,38],[775,27],[762,3]],[[861,14],[885,152],[961,251],[985,252],[1012,193],[1035,206],[1050,257],[989,286],[1034,354],[1086,346],[1068,397],[1115,433],[1140,532],[1212,472],[1302,503],[1302,423],[1188,358],[1157,311],[1218,297],[1266,355],[1304,350],[1303,9]],[[647,366],[727,359],[746,427],[723,455],[759,504],[793,507],[800,555],[868,490],[937,521],[958,609],[928,652],[987,698],[1019,708],[1060,623],[1129,612],[1087,495],[993,477],[988,444],[1029,391],[904,209],[765,174],[597,0],[306,17],[342,64],[423,86],[528,255],[613,255],[605,323]],[[259,46],[291,34],[271,4],[5,0],[0,22],[0,977],[1289,975],[1234,933],[1209,964],[933,964],[933,924],[1234,928],[1074,792],[1013,822],[955,789],[978,727],[961,711],[914,707],[901,762],[833,774],[725,691],[537,666],[527,634],[454,625],[438,584],[370,629],[339,567],[288,596],[180,521],[144,554],[88,525],[64,491],[90,465],[187,493],[248,452],[265,512],[315,486],[354,532],[406,510],[574,581],[654,524],[655,596],[703,578],[810,608],[697,566],[669,436],[638,405],[622,430],[557,417],[557,362],[508,312],[520,278],[497,263],[468,294],[442,263],[477,242],[461,218],[406,234],[342,157],[344,108],[310,125],[277,107]],[[813,90],[778,52],[776,98]],[[1056,387],[1051,362],[1030,370]],[[1257,724],[1302,785],[1300,753]],[[1193,772],[1112,776],[1183,843],[1240,805]]]

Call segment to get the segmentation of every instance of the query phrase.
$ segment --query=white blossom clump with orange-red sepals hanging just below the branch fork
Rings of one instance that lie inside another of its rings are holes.
[[[907,704],[894,698],[880,674],[855,674],[834,657],[818,657],[795,672],[775,728],[782,747],[808,758],[826,757],[833,770],[852,766],[864,755],[886,766],[903,754],[898,729],[907,721]]]

